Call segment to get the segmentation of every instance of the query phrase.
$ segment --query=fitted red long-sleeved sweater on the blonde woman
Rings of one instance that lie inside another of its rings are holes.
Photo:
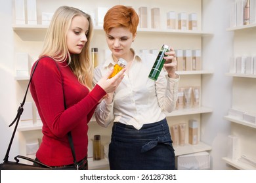
[[[43,122],[43,139],[36,157],[50,166],[73,163],[68,142],[69,131],[72,132],[77,161],[87,156],[87,124],[98,101],[106,95],[98,85],[89,92],[66,65],[66,62],[58,62],[59,71],[53,59],[42,58],[30,85],[30,92]]]

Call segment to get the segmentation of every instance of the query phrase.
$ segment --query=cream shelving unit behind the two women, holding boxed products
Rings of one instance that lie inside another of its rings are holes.
[[[88,10],[95,9],[96,7],[112,7],[113,5],[122,4],[122,5],[135,5],[135,9],[140,6],[145,5],[145,1],[135,2],[135,1],[115,1],[112,0],[106,4],[103,0],[97,2],[95,5],[89,5],[87,8]],[[172,0],[176,2],[175,0]],[[49,5],[43,5],[43,1],[37,1],[39,6],[39,12],[48,11]],[[71,2],[71,1],[64,1],[66,5],[78,7],[78,4],[83,5],[83,1]],[[47,1],[53,7],[59,7],[63,5],[62,2],[53,2]],[[89,4],[89,1],[86,1]],[[161,46],[162,42],[171,42],[170,44],[175,46],[175,48],[181,49],[200,49],[203,52],[202,48],[202,37],[205,36],[212,36],[213,34],[210,32],[205,32],[201,30],[201,12],[202,12],[202,1],[198,0],[182,0],[175,3],[173,7],[173,3],[170,3],[172,7],[166,7],[165,1],[146,1],[146,5],[151,7],[160,7],[162,8],[163,12],[167,12],[169,10],[177,10],[177,12],[197,12],[198,13],[198,31],[182,31],[182,30],[171,30],[166,29],[165,27],[161,29],[138,29],[138,39],[135,41],[133,48],[136,51],[139,49],[158,49]],[[184,7],[182,7],[184,6]],[[51,7],[51,9],[53,8]],[[84,6],[86,7],[86,6]],[[55,9],[55,8],[54,8]],[[54,10],[53,10],[54,11]],[[150,11],[150,9],[148,10]],[[161,17],[163,18],[163,22],[166,18],[165,13],[161,13]],[[90,12],[89,12],[90,13]],[[40,52],[40,46],[43,44],[43,35],[46,33],[48,25],[16,25],[12,24],[12,29],[14,31],[14,52],[28,52],[33,60],[35,60]],[[104,50],[108,48],[106,45],[104,31],[102,27],[95,26],[94,27],[94,37],[91,44],[91,47],[99,48],[99,59],[104,59]],[[31,39],[33,37],[33,39]],[[184,44],[186,42],[186,44]],[[157,43],[157,44],[156,44]],[[35,45],[35,46],[34,46]],[[156,46],[156,47],[155,47]],[[35,48],[35,49],[34,49]],[[203,62],[203,61],[202,61]],[[202,75],[212,75],[214,71],[212,70],[202,70],[202,71],[178,71],[177,72],[181,76],[180,86],[200,86],[202,82]],[[22,76],[22,77],[15,77],[17,80],[18,85],[20,88],[18,90],[24,90],[26,84],[28,83],[29,76]],[[200,88],[201,92],[203,93],[203,88]],[[18,92],[17,92],[18,93]],[[18,99],[21,96],[17,97]],[[28,100],[32,101],[31,97],[28,97]],[[201,122],[201,114],[210,113],[213,110],[210,107],[199,107],[199,108],[187,108],[184,110],[175,110],[170,114],[166,114],[168,124],[172,125],[174,122],[182,122],[182,120],[186,120],[188,122],[189,118],[196,118],[200,123]],[[174,120],[177,119],[178,120]],[[30,138],[37,138],[41,136],[41,123],[37,123],[36,120],[33,120],[33,125],[19,125],[18,132],[19,132],[19,141],[20,141],[20,154],[26,155],[26,141]],[[89,139],[93,139],[93,135],[99,133],[100,135],[104,136],[104,143],[108,143],[110,140],[111,135],[111,126],[107,129],[100,127],[96,124],[95,120],[92,120],[89,123]],[[30,134],[30,137],[28,137]],[[186,135],[188,136],[188,135]],[[106,137],[106,138],[105,138]],[[186,139],[188,141],[188,139]],[[183,154],[190,154],[194,152],[202,152],[202,151],[209,151],[211,150],[211,146],[199,142],[197,145],[190,145],[186,142],[185,146],[177,146],[175,147],[175,154],[176,156],[180,156]],[[107,159],[102,159],[100,161],[89,161],[89,169],[102,169],[108,167]]]

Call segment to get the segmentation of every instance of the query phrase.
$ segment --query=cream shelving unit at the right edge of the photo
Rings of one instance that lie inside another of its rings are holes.
[[[239,27],[230,27],[226,29],[234,33],[233,50],[236,56],[256,56],[254,44],[256,41],[256,24],[242,25]],[[232,107],[244,112],[255,114],[256,100],[256,73],[254,75],[245,75],[237,73],[226,73],[226,76],[232,76]],[[231,135],[239,139],[239,156],[245,155],[252,159],[256,158],[256,123],[247,122],[236,116],[226,115],[224,119],[231,124]],[[225,163],[236,169],[255,170],[256,167],[244,163],[238,159],[232,160],[228,157],[222,158]]]

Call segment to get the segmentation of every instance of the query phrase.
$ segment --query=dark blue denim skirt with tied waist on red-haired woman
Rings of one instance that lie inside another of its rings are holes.
[[[175,153],[166,119],[140,130],[114,122],[108,158],[112,170],[173,170]]]

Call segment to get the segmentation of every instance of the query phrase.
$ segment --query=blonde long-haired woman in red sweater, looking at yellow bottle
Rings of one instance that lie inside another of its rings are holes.
[[[114,92],[123,78],[121,72],[108,79],[110,71],[93,88],[89,53],[92,33],[88,14],[74,7],[59,7],[32,77],[30,92],[43,122],[43,139],[36,159],[51,167],[73,164],[68,142],[71,131],[79,169],[88,169],[87,124],[102,97]]]

